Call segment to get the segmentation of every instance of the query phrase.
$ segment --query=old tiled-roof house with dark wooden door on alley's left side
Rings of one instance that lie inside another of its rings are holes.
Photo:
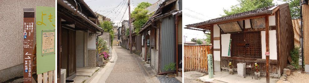
[[[65,69],[66,79],[70,80],[76,76],[77,67],[97,66],[96,39],[103,30],[83,0],[57,0],[57,13],[57,70]],[[58,72],[58,79],[60,75]]]

